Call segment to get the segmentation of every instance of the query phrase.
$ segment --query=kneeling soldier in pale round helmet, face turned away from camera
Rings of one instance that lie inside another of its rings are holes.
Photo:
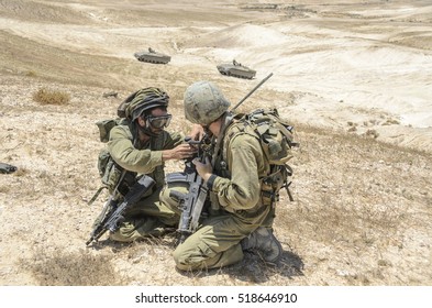
[[[217,268],[243,260],[243,251],[255,250],[266,262],[277,262],[283,253],[273,234],[274,205],[262,197],[262,179],[269,165],[254,131],[240,125],[230,102],[211,81],[198,81],[185,92],[185,116],[212,135],[213,157],[193,160],[210,191],[209,216],[201,227],[174,252],[182,271]],[[184,188],[169,187],[178,189]],[[176,200],[163,191],[160,200],[176,208]]]

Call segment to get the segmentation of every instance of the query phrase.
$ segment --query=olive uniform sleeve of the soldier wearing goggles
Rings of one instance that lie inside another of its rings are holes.
[[[135,148],[130,131],[121,125],[111,130],[108,151],[121,167],[139,174],[152,173],[163,164],[162,151]]]

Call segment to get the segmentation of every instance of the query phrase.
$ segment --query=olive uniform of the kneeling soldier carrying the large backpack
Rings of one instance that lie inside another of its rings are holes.
[[[211,120],[200,121],[200,114],[211,114],[211,109],[206,109],[211,108],[211,105],[201,106],[201,109],[189,108],[191,113],[195,112],[192,117],[185,109],[188,120],[209,124],[228,109],[226,103],[221,107],[223,101],[219,103],[223,100],[220,92],[214,91],[213,86],[210,90],[213,94],[209,96],[215,97],[212,103],[219,110],[211,116]],[[269,165],[265,161],[259,141],[253,131],[241,131],[235,121],[225,119],[225,122],[228,128],[224,141],[221,142],[221,151],[213,157],[212,174],[215,177],[207,184],[211,208],[218,210],[210,209],[209,217],[199,229],[176,248],[174,260],[176,266],[182,271],[217,268],[241,261],[241,241],[259,227],[270,227],[273,223],[274,205],[262,198],[262,178],[268,174]],[[180,193],[187,189],[168,188],[178,189]],[[177,202],[169,197],[169,189],[163,190],[160,200],[175,208]]]

